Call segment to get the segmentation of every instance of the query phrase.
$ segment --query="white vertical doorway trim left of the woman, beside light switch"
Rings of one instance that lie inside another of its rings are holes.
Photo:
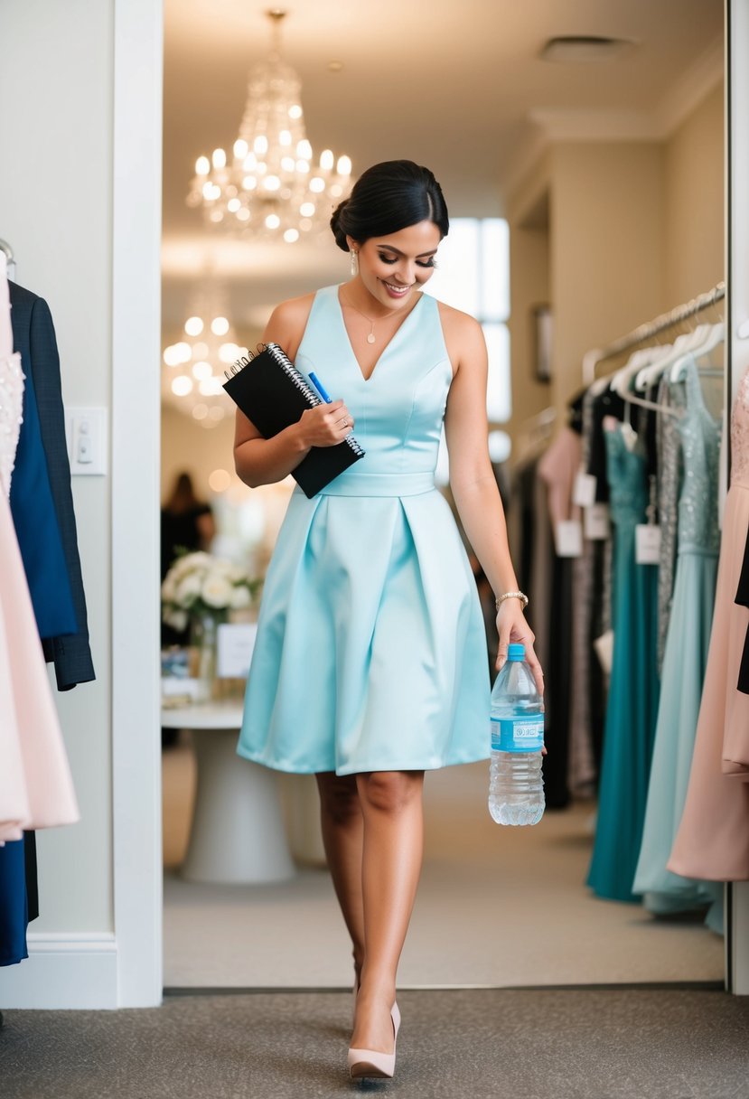
[[[118,1007],[161,1001],[161,0],[115,0],[112,798]]]

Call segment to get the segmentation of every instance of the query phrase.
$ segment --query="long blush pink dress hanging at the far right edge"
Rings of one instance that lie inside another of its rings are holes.
[[[708,881],[749,879],[749,695],[737,689],[749,608],[734,602],[749,530],[749,371],[731,415],[733,466],[705,685],[686,801],[668,868]]]

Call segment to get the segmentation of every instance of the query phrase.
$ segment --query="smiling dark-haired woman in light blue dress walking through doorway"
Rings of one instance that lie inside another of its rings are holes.
[[[395,973],[422,862],[424,770],[485,758],[489,678],[476,585],[434,487],[443,418],[452,493],[498,597],[498,663],[533,652],[487,451],[479,324],[421,287],[448,218],[426,168],[369,168],[333,214],[351,278],[272,313],[264,340],[343,399],[272,439],[237,412],[250,486],[355,431],[365,457],[291,498],[265,585],[237,751],[314,773],[325,851],[354,944],[351,1076],[390,1077]]]

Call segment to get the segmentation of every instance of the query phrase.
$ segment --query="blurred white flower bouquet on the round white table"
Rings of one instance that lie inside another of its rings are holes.
[[[231,560],[187,553],[164,578],[161,617],[174,630],[186,630],[190,620],[225,619],[230,611],[250,607],[260,584]]]

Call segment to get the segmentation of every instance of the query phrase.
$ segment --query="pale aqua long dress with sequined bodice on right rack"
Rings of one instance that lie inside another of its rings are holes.
[[[642,846],[633,886],[635,892],[644,895],[645,907],[657,914],[713,904],[723,895],[722,886],[682,878],[666,868],[692,768],[720,547],[717,513],[720,426],[705,408],[694,362],[690,360],[684,369],[686,403],[677,422],[684,470],[679,498],[679,555]],[[719,906],[713,908],[708,922],[720,930]]]

